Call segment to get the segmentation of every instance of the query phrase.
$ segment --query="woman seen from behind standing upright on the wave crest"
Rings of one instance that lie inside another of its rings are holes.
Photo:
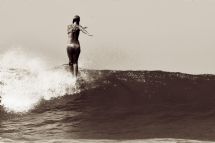
[[[67,43],[67,55],[69,58],[69,66],[72,74],[77,77],[78,75],[78,58],[81,52],[80,43],[79,43],[79,33],[80,31],[84,34],[90,35],[87,31],[87,27],[82,27],[80,23],[80,17],[75,15],[73,18],[73,24],[68,25],[67,34],[68,34],[68,43]]]

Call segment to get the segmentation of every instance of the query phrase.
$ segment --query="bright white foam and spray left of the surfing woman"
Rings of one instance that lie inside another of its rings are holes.
[[[1,105],[7,111],[27,112],[41,99],[79,92],[69,71],[47,69],[42,59],[21,50],[8,51],[0,61]]]

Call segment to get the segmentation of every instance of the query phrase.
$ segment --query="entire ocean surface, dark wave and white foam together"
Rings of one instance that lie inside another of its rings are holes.
[[[1,56],[0,142],[215,141],[214,75],[45,67]]]

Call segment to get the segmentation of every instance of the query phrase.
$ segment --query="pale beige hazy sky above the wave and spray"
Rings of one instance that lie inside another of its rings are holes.
[[[0,0],[0,52],[67,63],[76,14],[83,68],[215,73],[214,0]]]

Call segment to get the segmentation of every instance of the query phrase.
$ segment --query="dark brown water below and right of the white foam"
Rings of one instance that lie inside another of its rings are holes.
[[[0,142],[215,141],[215,76],[82,72],[95,80],[79,79],[79,93],[42,100],[22,115],[2,109]]]

